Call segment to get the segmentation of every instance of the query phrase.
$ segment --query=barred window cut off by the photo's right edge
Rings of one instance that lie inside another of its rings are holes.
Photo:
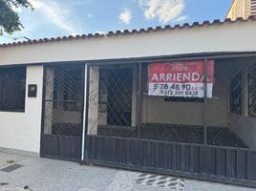
[[[248,69],[248,116],[256,117],[256,64]]]

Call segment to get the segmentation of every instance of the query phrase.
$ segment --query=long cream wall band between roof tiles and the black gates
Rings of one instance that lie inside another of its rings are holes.
[[[0,48],[0,65],[184,53],[255,52],[255,22]]]

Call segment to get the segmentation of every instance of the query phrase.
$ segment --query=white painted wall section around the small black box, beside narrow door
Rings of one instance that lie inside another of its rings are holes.
[[[28,97],[28,84],[37,84],[37,97]],[[0,147],[39,154],[43,66],[27,67],[25,113],[0,112]]]

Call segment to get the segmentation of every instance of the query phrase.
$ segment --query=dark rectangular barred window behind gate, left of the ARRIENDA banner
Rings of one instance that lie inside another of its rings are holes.
[[[107,97],[105,102],[99,100],[101,108],[106,107],[100,113],[107,113],[108,125],[131,126],[133,69],[101,69],[99,74],[99,97]]]

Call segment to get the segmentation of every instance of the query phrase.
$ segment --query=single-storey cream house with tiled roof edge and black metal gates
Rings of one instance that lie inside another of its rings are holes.
[[[2,44],[0,150],[256,187],[255,24]]]

